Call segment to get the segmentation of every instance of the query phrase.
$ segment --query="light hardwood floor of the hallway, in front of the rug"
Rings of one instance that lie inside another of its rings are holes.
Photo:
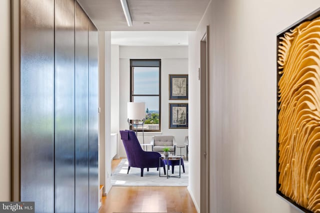
[[[120,161],[112,161],[112,171]],[[99,213],[113,212],[197,213],[186,187],[112,187]]]

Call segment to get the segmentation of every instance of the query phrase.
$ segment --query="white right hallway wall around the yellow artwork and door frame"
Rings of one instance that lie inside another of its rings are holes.
[[[212,0],[189,34],[190,158],[199,156],[199,41],[210,25],[211,213],[297,213],[276,195],[276,34],[318,0]],[[197,169],[199,161],[190,162]],[[196,170],[194,170],[197,172]],[[199,178],[189,191],[199,206]]]

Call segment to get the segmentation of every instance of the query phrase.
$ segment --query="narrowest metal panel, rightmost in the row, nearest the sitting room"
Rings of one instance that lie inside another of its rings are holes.
[[[89,21],[89,213],[98,212],[98,37]]]

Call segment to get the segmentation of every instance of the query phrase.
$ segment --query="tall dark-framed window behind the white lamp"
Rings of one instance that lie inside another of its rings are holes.
[[[145,132],[161,130],[160,76],[160,59],[130,59],[130,101],[145,103]]]

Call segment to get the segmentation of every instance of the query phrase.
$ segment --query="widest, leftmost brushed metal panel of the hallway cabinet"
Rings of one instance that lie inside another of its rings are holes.
[[[53,27],[53,0],[20,0],[20,199],[36,213],[54,211]]]

